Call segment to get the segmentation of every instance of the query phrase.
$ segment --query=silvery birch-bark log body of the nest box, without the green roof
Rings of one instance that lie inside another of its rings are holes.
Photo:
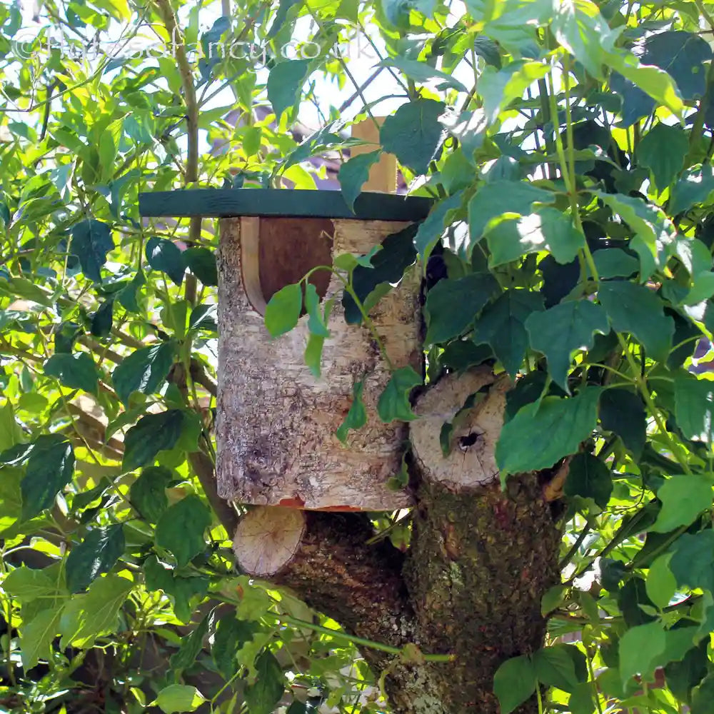
[[[265,236],[276,239],[278,248],[273,259],[281,261],[276,271],[288,278],[291,256],[285,245],[301,243],[296,236],[280,243],[275,221],[304,220],[221,221],[218,493],[229,501],[265,506],[354,511],[390,511],[410,506],[406,491],[391,491],[386,486],[388,478],[401,467],[407,427],[398,422],[383,424],[378,419],[376,403],[389,371],[368,328],[346,323],[339,299],[343,286],[338,278],[331,276],[326,284],[324,300],[337,299],[328,320],[331,336],[323,346],[320,378],[308,371],[303,360],[309,335],[308,316],[303,315],[296,328],[276,339],[270,338],[263,324],[261,305],[256,304],[261,296],[256,297],[256,293],[266,290],[265,280],[261,282],[259,278],[266,271],[256,262],[264,263],[271,253],[256,241]],[[320,225],[324,223],[321,219]],[[331,265],[333,256],[341,253],[368,253],[388,234],[406,225],[348,220],[334,220],[331,224],[331,235],[321,228],[321,236],[312,235],[311,241],[306,241],[306,249],[318,246],[314,265]],[[323,243],[327,239],[328,243],[323,246],[317,238]],[[286,283],[299,281],[310,264],[302,254],[296,255],[293,262],[297,269],[293,267],[295,274]],[[328,273],[323,271],[322,275]],[[376,331],[395,367],[411,363],[418,368],[421,362],[418,286],[419,276],[411,268],[399,286],[371,311]],[[278,287],[273,284],[268,292]],[[361,379],[368,424],[351,433],[350,446],[345,448],[334,433],[351,406],[353,384]]]

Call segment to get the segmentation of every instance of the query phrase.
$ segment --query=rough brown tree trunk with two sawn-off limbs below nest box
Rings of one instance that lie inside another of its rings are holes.
[[[291,588],[354,635],[406,648],[363,649],[395,712],[498,714],[498,665],[543,645],[540,599],[558,582],[559,532],[543,494],[550,474],[511,477],[501,489],[493,450],[509,386],[480,369],[418,401],[406,555],[387,540],[369,545],[364,514],[258,507],[238,526],[243,570]],[[452,420],[445,458],[438,437]],[[521,708],[535,710],[533,701]]]

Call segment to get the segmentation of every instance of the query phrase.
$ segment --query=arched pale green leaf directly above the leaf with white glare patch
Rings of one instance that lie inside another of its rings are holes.
[[[476,191],[468,202],[470,247],[505,218],[529,216],[535,203],[553,203],[555,193],[525,181],[493,181]]]

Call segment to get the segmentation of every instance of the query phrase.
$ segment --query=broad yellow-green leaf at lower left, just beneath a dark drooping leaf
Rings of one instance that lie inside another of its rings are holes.
[[[62,612],[60,634],[62,647],[89,648],[99,635],[116,628],[119,608],[134,583],[119,575],[107,575],[91,583],[86,595],[75,595]]]

